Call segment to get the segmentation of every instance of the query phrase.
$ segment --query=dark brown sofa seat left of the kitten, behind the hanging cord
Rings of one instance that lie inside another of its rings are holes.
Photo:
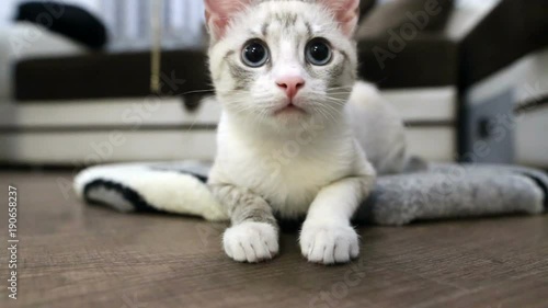
[[[162,53],[160,95],[210,89],[203,50]],[[150,90],[150,53],[87,54],[16,65],[19,101],[139,98]]]

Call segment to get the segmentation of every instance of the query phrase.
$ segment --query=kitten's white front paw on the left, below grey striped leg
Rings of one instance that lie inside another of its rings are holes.
[[[261,262],[278,252],[277,230],[265,223],[242,223],[228,228],[222,246],[228,256],[239,262]]]

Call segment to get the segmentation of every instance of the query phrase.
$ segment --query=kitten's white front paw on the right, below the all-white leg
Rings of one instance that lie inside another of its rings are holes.
[[[358,256],[359,240],[351,226],[305,224],[300,250],[313,263],[346,263]]]

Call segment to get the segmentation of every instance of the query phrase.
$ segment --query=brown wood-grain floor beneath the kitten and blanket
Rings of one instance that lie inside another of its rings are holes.
[[[329,267],[305,262],[289,232],[281,256],[250,265],[225,256],[224,225],[85,206],[70,181],[0,173],[20,219],[19,299],[1,269],[0,307],[548,307],[548,216],[363,227],[362,258]]]

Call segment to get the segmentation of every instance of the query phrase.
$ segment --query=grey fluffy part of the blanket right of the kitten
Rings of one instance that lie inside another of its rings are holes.
[[[413,220],[540,214],[548,176],[527,168],[432,164],[418,173],[380,176],[356,220],[404,225]]]

